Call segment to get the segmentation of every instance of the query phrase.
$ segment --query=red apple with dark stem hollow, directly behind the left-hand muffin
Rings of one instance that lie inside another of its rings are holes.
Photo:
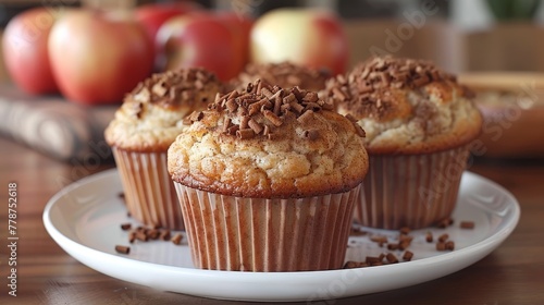
[[[193,13],[166,21],[157,33],[161,70],[201,66],[223,81],[239,73],[236,38],[232,29],[212,13]]]

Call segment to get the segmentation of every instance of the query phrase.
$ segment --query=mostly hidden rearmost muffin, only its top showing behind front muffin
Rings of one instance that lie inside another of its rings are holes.
[[[319,91],[325,88],[325,81],[330,77],[325,70],[317,70],[288,61],[280,63],[249,63],[246,69],[234,78],[230,88],[244,90],[245,86],[261,80],[267,84],[274,84],[284,89],[299,87],[305,90]]]

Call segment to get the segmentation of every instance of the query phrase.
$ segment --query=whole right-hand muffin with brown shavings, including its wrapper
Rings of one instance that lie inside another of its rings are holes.
[[[482,126],[470,90],[431,62],[376,57],[331,80],[323,96],[367,132],[358,222],[418,229],[450,216]]]

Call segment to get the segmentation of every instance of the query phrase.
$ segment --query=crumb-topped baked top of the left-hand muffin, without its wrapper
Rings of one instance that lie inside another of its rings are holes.
[[[206,109],[223,90],[214,74],[183,69],[154,74],[125,96],[104,131],[109,145],[131,151],[166,151],[183,119]]]

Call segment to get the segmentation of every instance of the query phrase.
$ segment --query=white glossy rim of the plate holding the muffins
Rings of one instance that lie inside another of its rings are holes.
[[[185,294],[190,294],[195,296],[200,296],[200,297],[211,297],[211,298],[221,298],[221,300],[238,300],[238,301],[260,301],[260,302],[294,302],[294,301],[308,301],[309,298],[307,296],[300,297],[300,296],[282,296],[282,295],[275,295],[276,298],[269,298],[269,297],[260,297],[258,295],[252,295],[250,294],[245,297],[237,297],[233,295],[222,295],[222,294],[214,294],[211,293],[210,291],[209,294],[202,294],[202,293],[191,293],[190,291],[187,291],[186,286],[182,285],[182,289],[161,289],[161,286],[158,286],[157,284],[146,281],[145,279],[133,279],[133,278],[127,278],[127,277],[122,277],[119,274],[112,274],[112,272],[108,272],[102,270],[102,268],[97,266],[94,266],[92,263],[88,261],[88,257],[85,259],[82,259],[82,257],[76,257],[78,256],[78,252],[85,252],[88,253],[89,255],[87,256],[95,256],[95,257],[104,257],[107,258],[111,264],[114,265],[120,265],[123,266],[125,264],[137,264],[137,267],[141,267],[143,269],[146,269],[147,271],[149,270],[154,270],[154,271],[165,271],[169,272],[170,274],[176,274],[176,276],[187,276],[187,277],[196,277],[196,278],[208,278],[208,277],[214,277],[218,279],[228,279],[232,280],[232,277],[235,277],[237,279],[237,282],[260,282],[262,281],[263,274],[265,274],[267,280],[264,282],[270,285],[270,279],[273,281],[283,279],[285,277],[288,277],[290,281],[299,281],[299,280],[311,280],[312,278],[331,278],[331,280],[337,279],[338,277],[344,278],[346,274],[355,272],[355,271],[360,271],[364,270],[364,273],[369,273],[369,277],[372,277],[372,273],[376,272],[392,272],[395,269],[398,269],[398,266],[403,266],[403,269],[408,269],[408,271],[417,269],[418,267],[421,268],[422,265],[425,266],[425,268],[429,268],[429,266],[435,266],[437,264],[443,264],[444,261],[449,260],[452,257],[457,257],[459,260],[471,260],[470,263],[465,263],[461,264],[463,265],[462,267],[453,267],[455,269],[454,271],[446,271],[442,272],[443,274],[440,274],[437,277],[431,277],[431,279],[420,279],[416,281],[410,281],[410,284],[405,284],[405,285],[398,285],[390,289],[383,289],[383,290],[375,290],[373,292],[380,292],[380,291],[387,291],[392,289],[398,289],[403,286],[409,286],[409,285],[415,285],[419,284],[422,282],[426,282],[433,279],[437,279],[447,274],[450,274],[455,271],[461,270],[475,261],[482,259],[486,255],[489,255],[491,252],[493,252],[496,247],[498,247],[510,234],[511,232],[516,229],[521,210],[518,200],[516,197],[505,187],[500,186],[496,182],[486,179],[484,176],[481,176],[479,174],[465,171],[463,172],[463,179],[465,175],[470,176],[471,179],[477,179],[481,181],[482,183],[485,183],[494,188],[494,191],[500,192],[503,195],[507,196],[509,207],[511,208],[510,210],[510,216],[508,217],[507,222],[500,223],[500,227],[496,232],[491,234],[490,236],[486,236],[484,240],[479,241],[472,245],[466,246],[461,249],[456,249],[452,253],[445,253],[441,254],[437,256],[433,257],[428,257],[428,258],[422,258],[418,260],[412,260],[412,261],[407,261],[403,264],[396,264],[396,265],[384,265],[384,266],[376,266],[372,268],[355,268],[355,269],[337,269],[337,270],[317,270],[317,271],[292,271],[292,272],[242,272],[242,271],[224,271],[224,270],[202,270],[202,269],[197,269],[197,268],[187,268],[187,267],[181,267],[181,266],[169,266],[169,265],[161,265],[157,263],[149,263],[149,261],[143,261],[129,257],[122,257],[115,254],[111,253],[106,253],[96,248],[92,248],[90,246],[84,245],[79,243],[78,241],[75,241],[66,235],[64,235],[61,230],[59,230],[52,219],[51,219],[51,210],[52,208],[58,205],[65,194],[69,194],[70,192],[73,192],[74,190],[78,187],[85,187],[86,185],[92,183],[94,181],[97,180],[103,180],[103,179],[113,179],[113,175],[116,175],[119,179],[119,173],[115,168],[108,169],[104,171],[100,171],[98,173],[85,176],[81,180],[77,180],[63,188],[61,188],[58,193],[55,193],[46,204],[46,207],[44,209],[42,213],[42,221],[46,228],[46,231],[49,233],[49,235],[53,239],[53,241],[61,247],[63,248],[69,255],[74,257],[76,260],[79,263],[86,265],[87,267],[95,269],[101,273],[104,273],[107,276],[110,276],[112,278],[116,278],[120,280],[137,283],[137,284],[143,284],[147,286],[151,286],[154,289],[160,289],[160,290],[166,290],[166,291],[172,291],[172,292],[177,292],[177,293],[185,293]],[[75,254],[74,254],[75,253]],[[475,255],[470,255],[470,254],[475,253]],[[74,256],[76,255],[76,256]],[[472,258],[472,259],[471,259]],[[411,267],[411,268],[410,268]],[[159,273],[160,273],[159,272]],[[116,272],[113,272],[116,273]],[[348,292],[342,295],[341,297],[348,297],[348,296],[355,296],[355,295],[362,295],[367,294],[370,292],[366,293],[354,293],[354,292]],[[307,294],[305,294],[307,295]],[[329,295],[331,296],[331,295]],[[332,295],[334,296],[334,295]],[[324,296],[318,296],[317,298],[311,298],[311,301],[320,301],[320,300],[329,300],[329,298],[337,298],[337,297],[326,297]]]

